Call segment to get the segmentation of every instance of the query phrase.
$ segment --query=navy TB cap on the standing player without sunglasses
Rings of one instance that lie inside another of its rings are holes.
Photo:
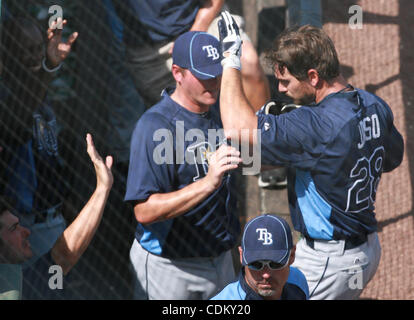
[[[220,41],[211,34],[188,31],[174,42],[173,64],[189,69],[198,79],[208,80],[223,73]]]

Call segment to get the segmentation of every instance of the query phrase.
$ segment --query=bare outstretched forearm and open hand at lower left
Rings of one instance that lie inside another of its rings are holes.
[[[62,267],[64,274],[67,274],[76,264],[91,242],[101,221],[113,184],[112,157],[106,157],[104,162],[96,151],[90,134],[87,134],[86,141],[89,157],[95,167],[96,189],[88,203],[52,248],[52,258]]]

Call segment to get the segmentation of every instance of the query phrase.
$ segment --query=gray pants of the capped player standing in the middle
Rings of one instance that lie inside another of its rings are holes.
[[[138,300],[207,300],[236,280],[230,251],[216,258],[170,260],[149,253],[134,240],[130,258]]]

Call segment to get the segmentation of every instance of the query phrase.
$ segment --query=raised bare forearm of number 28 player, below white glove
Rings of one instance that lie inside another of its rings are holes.
[[[223,128],[232,139],[246,137],[242,130],[248,130],[249,143],[255,143],[257,116],[243,91],[239,70],[225,68],[221,80],[220,114]],[[243,139],[245,140],[245,139]]]

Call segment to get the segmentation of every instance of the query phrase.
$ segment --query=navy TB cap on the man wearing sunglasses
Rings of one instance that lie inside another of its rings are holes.
[[[286,264],[293,247],[289,224],[272,214],[260,215],[244,228],[241,247],[243,266],[258,260]]]

